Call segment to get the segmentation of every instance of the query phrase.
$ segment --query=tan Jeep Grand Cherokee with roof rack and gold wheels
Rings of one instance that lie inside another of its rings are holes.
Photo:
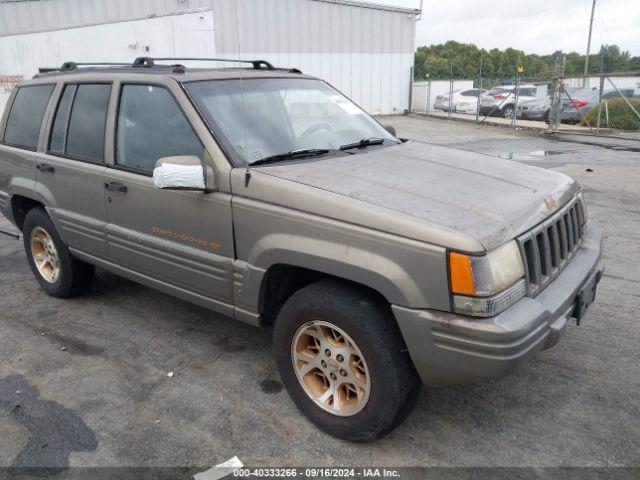
[[[422,383],[507,375],[584,318],[602,233],[570,177],[400,140],[298,70],[179,61],[68,63],[13,90],[0,212],[49,295],[98,266],[272,326],[295,404],[357,441]]]

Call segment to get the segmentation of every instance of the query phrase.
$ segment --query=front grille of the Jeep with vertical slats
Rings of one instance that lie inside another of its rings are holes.
[[[517,241],[524,260],[527,295],[536,296],[556,278],[580,247],[585,228],[578,197]]]

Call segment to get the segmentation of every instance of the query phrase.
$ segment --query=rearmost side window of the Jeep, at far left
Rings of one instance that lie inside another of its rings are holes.
[[[35,150],[53,85],[19,87],[11,105],[4,143]]]

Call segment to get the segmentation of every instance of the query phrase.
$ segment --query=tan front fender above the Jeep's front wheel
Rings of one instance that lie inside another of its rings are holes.
[[[238,259],[253,267],[303,267],[366,285],[395,305],[449,309],[442,247],[244,198],[234,200],[234,222]]]

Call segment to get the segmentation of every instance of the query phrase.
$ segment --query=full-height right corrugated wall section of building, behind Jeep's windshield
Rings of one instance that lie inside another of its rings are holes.
[[[218,54],[300,68],[371,113],[409,108],[413,15],[309,0],[216,0],[214,5]]]

